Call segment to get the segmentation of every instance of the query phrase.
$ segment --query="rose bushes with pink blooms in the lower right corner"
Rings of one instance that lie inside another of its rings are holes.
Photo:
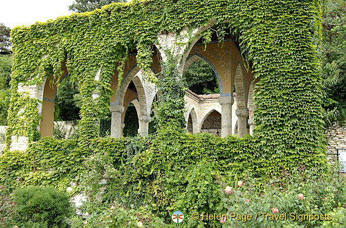
[[[345,227],[346,178],[334,167],[328,175],[298,167],[296,173],[283,172],[262,187],[255,178],[245,178],[232,192],[224,191],[224,227]],[[252,219],[237,220],[230,213]]]

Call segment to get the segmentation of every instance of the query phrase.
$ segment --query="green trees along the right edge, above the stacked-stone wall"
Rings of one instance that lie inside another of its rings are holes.
[[[322,79],[325,122],[346,120],[346,1],[322,4]]]

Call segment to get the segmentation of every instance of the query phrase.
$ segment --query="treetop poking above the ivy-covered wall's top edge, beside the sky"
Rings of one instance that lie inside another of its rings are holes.
[[[87,12],[95,9],[100,9],[102,6],[108,5],[113,2],[125,3],[126,0],[75,0],[69,10],[73,12]]]

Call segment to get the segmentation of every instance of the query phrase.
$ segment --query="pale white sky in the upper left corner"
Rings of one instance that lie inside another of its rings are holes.
[[[0,0],[0,23],[10,28],[30,26],[60,16],[71,15],[73,0]]]

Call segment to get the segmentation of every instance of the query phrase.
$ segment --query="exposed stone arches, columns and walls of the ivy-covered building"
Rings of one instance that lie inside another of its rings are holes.
[[[180,34],[168,33],[158,34],[158,44],[154,45],[152,55],[152,73],[158,75],[161,72],[161,61],[167,56],[165,50],[181,57],[179,62],[179,73],[183,72],[197,59],[206,61],[214,70],[219,83],[219,95],[196,95],[191,91],[185,94],[186,110],[185,120],[187,131],[192,133],[208,132],[221,137],[236,134],[243,137],[253,134],[255,122],[253,121],[253,91],[255,80],[251,67],[246,66],[242,58],[239,45],[230,37],[225,37],[221,46],[217,37],[213,36],[209,44],[202,44],[201,33],[213,25],[197,28],[192,33],[182,30]],[[188,37],[190,41],[187,41]],[[178,39],[178,40],[177,40]],[[179,44],[179,45],[178,45]],[[181,46],[181,44],[184,44]],[[100,69],[95,74],[95,81],[100,80]],[[63,64],[64,77],[69,77],[66,66]],[[62,79],[64,79],[62,77]],[[113,95],[109,100],[111,111],[111,137],[120,137],[124,128],[124,117],[127,106],[133,103],[139,119],[138,133],[148,133],[150,113],[155,97],[159,97],[160,91],[154,84],[143,78],[141,69],[136,64],[136,53],[130,53],[127,64],[125,64],[124,75],[118,86],[118,72],[114,70],[111,78]],[[234,95],[234,88],[236,97]],[[45,82],[33,86],[24,86],[19,83],[18,92],[27,93],[31,98],[42,101],[37,105],[37,112],[42,115],[39,122],[41,137],[53,135],[53,119],[55,108],[55,96],[57,85],[53,86]],[[118,91],[118,93],[116,93]],[[93,93],[93,99],[99,94]],[[11,150],[26,149],[28,137],[23,135],[12,135]]]

